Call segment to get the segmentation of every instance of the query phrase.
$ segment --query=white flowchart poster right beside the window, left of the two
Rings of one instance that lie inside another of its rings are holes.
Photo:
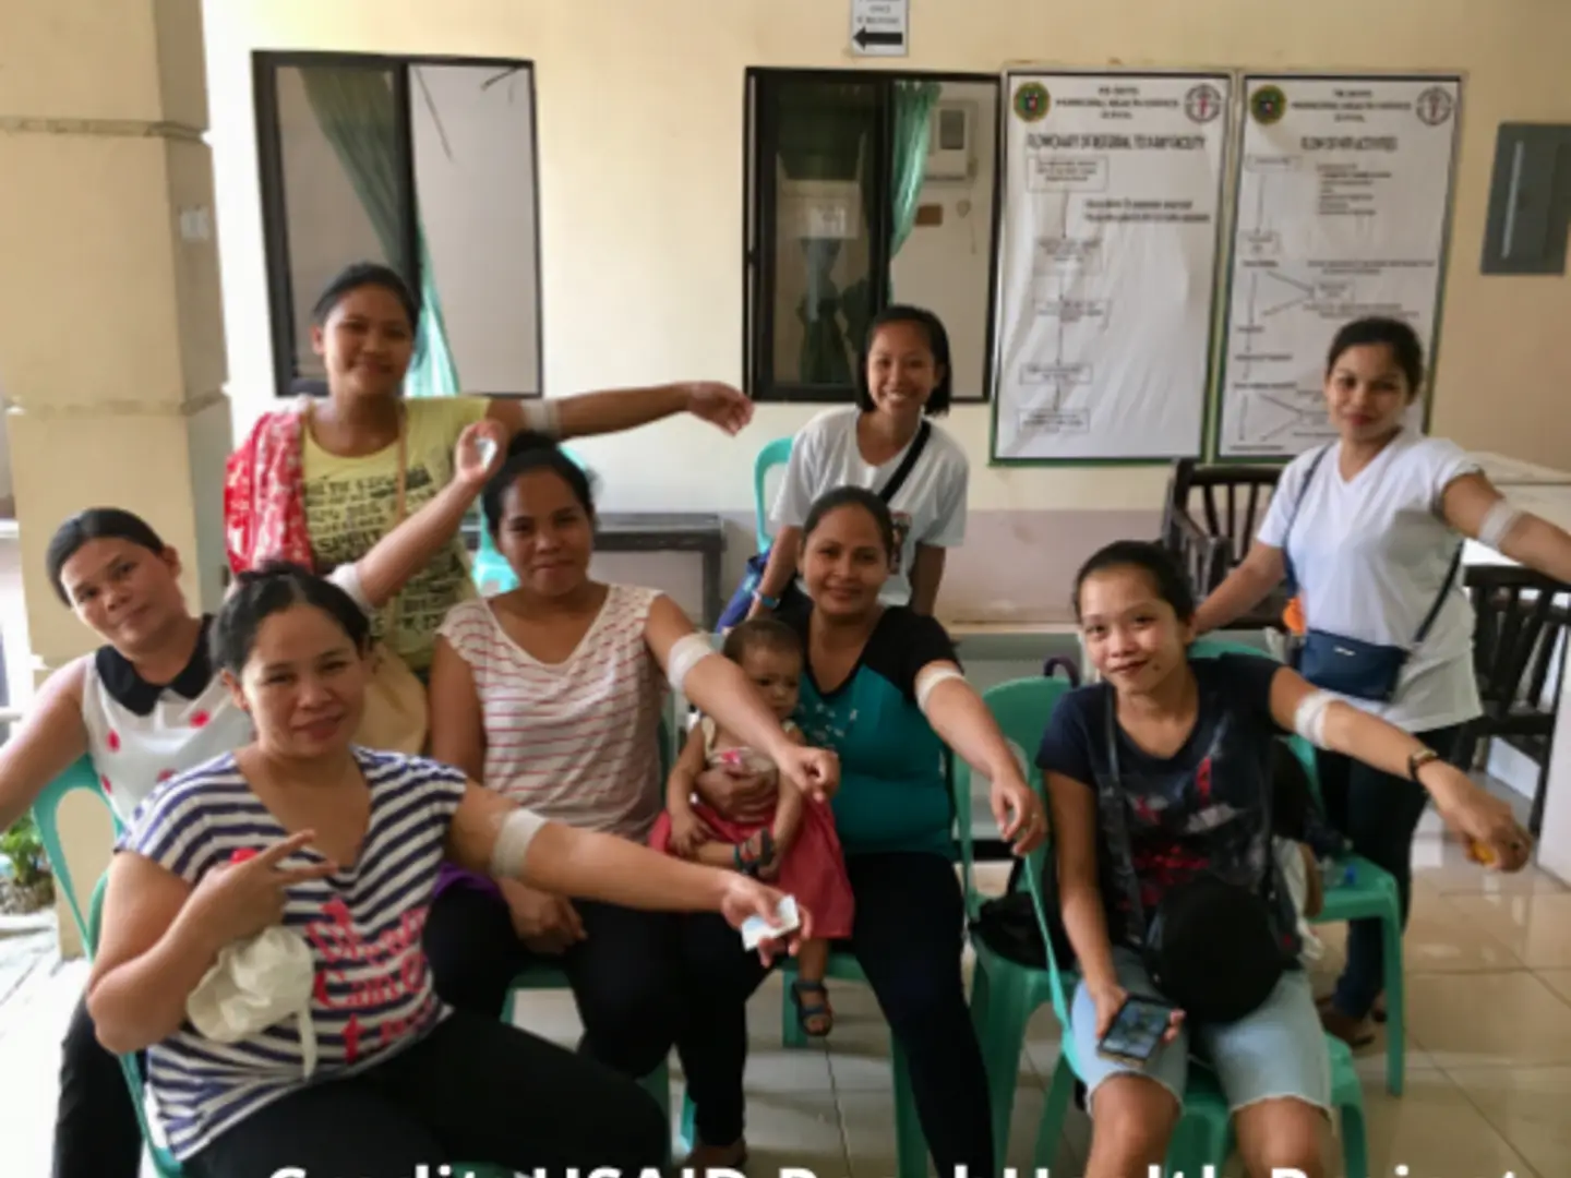
[[[1200,452],[1227,74],[1012,71],[993,459]]]

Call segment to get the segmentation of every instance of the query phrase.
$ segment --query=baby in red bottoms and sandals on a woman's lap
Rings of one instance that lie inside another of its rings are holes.
[[[796,710],[803,655],[796,633],[773,617],[743,622],[726,636],[724,655],[737,663],[764,696],[781,727],[796,743],[801,730],[790,716]],[[705,768],[724,766],[748,774],[773,776],[778,801],[768,821],[738,823],[721,817],[694,798],[694,782]],[[823,975],[829,941],[851,935],[851,884],[845,876],[840,840],[828,806],[807,801],[764,754],[746,748],[710,716],[701,716],[671,770],[666,812],[649,836],[657,851],[683,859],[735,867],[775,883],[812,913],[814,938],[796,953],[792,1001],[807,1035],[828,1035],[834,1026]]]

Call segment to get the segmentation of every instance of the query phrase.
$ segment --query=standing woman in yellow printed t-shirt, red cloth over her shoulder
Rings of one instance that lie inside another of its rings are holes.
[[[229,459],[225,523],[234,572],[281,558],[317,570],[360,559],[399,518],[452,476],[459,432],[482,418],[506,434],[523,427],[556,437],[610,434],[688,412],[734,434],[751,402],[716,383],[592,393],[566,399],[415,397],[404,374],[415,350],[419,306],[385,265],[360,264],[335,278],[313,311],[311,347],[327,366],[328,397],[267,413]],[[462,542],[454,539],[393,602],[391,650],[418,675],[430,666],[437,625],[474,595]]]

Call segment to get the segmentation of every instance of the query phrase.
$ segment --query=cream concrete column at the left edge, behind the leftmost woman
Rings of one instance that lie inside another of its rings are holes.
[[[0,58],[0,393],[42,679],[94,646],[44,576],[71,512],[138,512],[179,550],[193,606],[222,597],[231,429],[201,0],[11,3]],[[83,889],[108,861],[105,815],[82,795],[61,815]]]

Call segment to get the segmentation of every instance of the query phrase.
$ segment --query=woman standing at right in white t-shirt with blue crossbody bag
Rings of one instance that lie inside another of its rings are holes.
[[[1326,364],[1337,441],[1282,471],[1255,543],[1200,605],[1196,627],[1200,633],[1227,627],[1291,573],[1313,631],[1304,649],[1310,660],[1299,658],[1304,675],[1452,760],[1463,726],[1483,712],[1459,567],[1463,539],[1566,581],[1571,536],[1511,507],[1453,443],[1404,424],[1422,380],[1423,352],[1406,324],[1362,319],[1337,333]],[[1384,649],[1376,657],[1392,668],[1389,675],[1360,685],[1316,666],[1313,652],[1332,636],[1342,647],[1356,639]],[[1408,646],[1411,657],[1387,661]],[[1327,814],[1353,850],[1397,878],[1406,920],[1423,790],[1327,752],[1320,754],[1320,781]],[[1379,922],[1354,920],[1346,969],[1323,1010],[1326,1029],[1353,1046],[1368,1043],[1382,977]]]

